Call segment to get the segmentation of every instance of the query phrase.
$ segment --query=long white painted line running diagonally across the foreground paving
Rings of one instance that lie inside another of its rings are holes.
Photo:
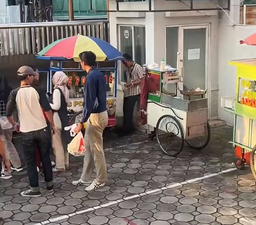
[[[157,188],[157,189],[154,189],[154,190],[149,190],[149,191],[146,191],[145,193],[141,193],[141,194],[137,194],[137,195],[132,195],[132,196],[125,197],[125,198],[120,198],[120,199],[118,199],[116,201],[109,202],[109,203],[102,204],[102,205],[95,206],[95,207],[91,207],[89,209],[80,210],[80,211],[77,211],[77,212],[74,212],[74,213],[70,213],[70,214],[67,214],[67,215],[61,215],[61,216],[56,217],[54,219],[49,219],[49,220],[42,221],[40,223],[35,223],[35,225],[43,225],[43,224],[48,224],[50,222],[58,222],[58,221],[63,220],[63,219],[68,219],[68,218],[70,218],[70,217],[72,217],[74,215],[79,215],[79,214],[87,213],[87,212],[93,212],[96,209],[101,209],[101,208],[105,208],[105,207],[108,207],[108,206],[111,206],[111,205],[115,205],[115,204],[117,204],[119,202],[124,202],[126,200],[131,200],[133,198],[138,198],[138,197],[141,197],[141,196],[153,194],[153,193],[156,193],[158,191],[163,191],[163,190],[166,190],[166,189],[178,187],[178,186],[181,186],[183,184],[190,184],[190,183],[198,181],[198,180],[204,180],[206,178],[219,176],[220,174],[228,173],[228,172],[235,171],[235,170],[237,170],[237,169],[236,168],[231,168],[231,169],[223,170],[223,171],[218,172],[218,173],[208,174],[208,175],[205,175],[203,177],[198,177],[198,178],[195,178],[195,179],[190,179],[190,180],[183,181],[183,182],[180,182],[180,183],[177,183],[177,184],[173,184],[173,185],[169,185],[169,186],[166,186],[166,187]]]

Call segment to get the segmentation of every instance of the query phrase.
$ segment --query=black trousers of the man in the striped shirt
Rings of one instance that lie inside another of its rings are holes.
[[[123,129],[126,132],[133,131],[133,111],[134,106],[137,101],[139,101],[140,95],[133,95],[129,97],[124,97],[123,113],[124,113],[124,123]]]

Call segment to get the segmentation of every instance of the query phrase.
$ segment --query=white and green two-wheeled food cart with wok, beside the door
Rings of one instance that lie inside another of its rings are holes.
[[[188,90],[177,69],[170,66],[164,72],[146,71],[147,124],[154,128],[162,151],[175,156],[184,141],[195,149],[206,147],[210,141],[206,90]]]

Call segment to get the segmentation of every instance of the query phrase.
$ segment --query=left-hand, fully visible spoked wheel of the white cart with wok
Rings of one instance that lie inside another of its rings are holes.
[[[184,145],[180,122],[172,115],[163,115],[156,124],[156,139],[164,153],[178,155]]]

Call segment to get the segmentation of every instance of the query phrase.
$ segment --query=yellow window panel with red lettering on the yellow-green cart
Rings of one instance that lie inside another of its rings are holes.
[[[256,107],[255,80],[239,78],[238,103]]]

